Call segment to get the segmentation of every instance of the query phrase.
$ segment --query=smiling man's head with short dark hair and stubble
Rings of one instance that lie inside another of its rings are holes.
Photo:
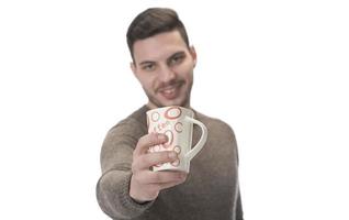
[[[190,107],[196,54],[177,13],[162,8],[142,12],[128,28],[127,44],[148,107]]]

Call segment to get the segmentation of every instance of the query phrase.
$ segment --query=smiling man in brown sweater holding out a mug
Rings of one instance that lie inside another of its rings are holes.
[[[176,161],[177,153],[148,152],[167,138],[147,134],[146,111],[167,106],[191,108],[196,53],[178,14],[171,9],[145,10],[131,23],[127,44],[132,72],[148,102],[112,128],[104,140],[103,175],[97,186],[101,209],[113,219],[241,220],[237,146],[226,123],[194,111],[209,136],[191,162],[190,173],[150,168]],[[194,143],[200,135],[194,127]]]

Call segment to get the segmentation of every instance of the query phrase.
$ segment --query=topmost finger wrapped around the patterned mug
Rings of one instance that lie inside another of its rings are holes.
[[[167,136],[160,133],[150,133],[142,136],[138,140],[137,146],[134,151],[134,156],[139,156],[145,154],[150,146],[155,146],[158,144],[164,144],[167,142]]]

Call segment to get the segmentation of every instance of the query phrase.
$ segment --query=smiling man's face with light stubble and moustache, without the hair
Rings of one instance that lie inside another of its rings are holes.
[[[148,107],[190,106],[196,54],[178,31],[138,40],[133,52],[131,68],[149,99]]]

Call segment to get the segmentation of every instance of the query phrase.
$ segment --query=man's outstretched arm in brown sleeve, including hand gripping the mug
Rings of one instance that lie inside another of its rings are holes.
[[[153,205],[161,189],[181,184],[187,178],[183,173],[149,170],[156,164],[176,161],[177,154],[148,153],[150,146],[166,143],[167,138],[160,134],[144,135],[134,127],[132,123],[121,123],[112,129],[101,152],[103,175],[97,185],[97,198],[101,209],[115,219],[140,216]]]

